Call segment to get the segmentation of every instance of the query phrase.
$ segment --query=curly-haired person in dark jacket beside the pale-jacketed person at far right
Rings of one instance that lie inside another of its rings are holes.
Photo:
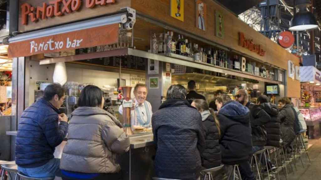
[[[284,97],[279,100],[280,113],[279,118],[281,122],[281,138],[284,147],[287,148],[291,145],[292,141],[295,139],[294,133],[294,120],[295,114],[292,110],[291,101],[289,98]]]

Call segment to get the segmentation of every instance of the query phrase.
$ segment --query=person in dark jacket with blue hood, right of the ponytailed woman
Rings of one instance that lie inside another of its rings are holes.
[[[239,102],[231,101],[227,94],[216,101],[222,103],[217,114],[221,126],[222,163],[239,164],[242,179],[254,180],[249,163],[252,151],[250,111]]]

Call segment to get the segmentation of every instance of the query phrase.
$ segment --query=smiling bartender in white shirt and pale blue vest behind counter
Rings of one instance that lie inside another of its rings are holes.
[[[137,84],[134,88],[135,98],[133,108],[130,112],[131,128],[134,131],[137,127],[152,127],[152,105],[146,101],[147,87],[144,84]],[[119,106],[118,112],[123,115],[123,105]]]

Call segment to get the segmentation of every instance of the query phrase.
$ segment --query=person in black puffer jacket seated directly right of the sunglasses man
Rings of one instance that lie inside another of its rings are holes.
[[[267,146],[280,147],[281,139],[281,125],[279,119],[279,108],[269,102],[266,95],[261,95],[257,98],[260,107],[267,112],[271,121],[265,124],[265,129],[267,133]]]

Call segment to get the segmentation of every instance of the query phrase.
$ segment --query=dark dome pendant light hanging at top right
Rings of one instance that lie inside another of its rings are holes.
[[[291,31],[304,31],[318,27],[316,17],[307,8],[311,6],[310,0],[296,0],[295,7],[299,9],[291,19]]]

